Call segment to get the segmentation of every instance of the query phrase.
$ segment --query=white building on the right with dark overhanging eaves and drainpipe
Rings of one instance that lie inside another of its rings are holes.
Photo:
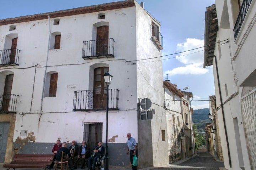
[[[207,7],[204,67],[213,65],[214,113],[226,169],[256,169],[256,4],[216,0]]]

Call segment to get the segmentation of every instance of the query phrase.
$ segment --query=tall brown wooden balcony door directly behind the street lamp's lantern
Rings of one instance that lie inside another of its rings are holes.
[[[99,67],[94,69],[94,108],[106,108],[107,85],[103,75],[108,71],[108,67]]]

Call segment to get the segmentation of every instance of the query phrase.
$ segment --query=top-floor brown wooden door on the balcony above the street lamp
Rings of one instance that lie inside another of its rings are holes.
[[[108,26],[97,28],[96,55],[103,56],[108,54]]]

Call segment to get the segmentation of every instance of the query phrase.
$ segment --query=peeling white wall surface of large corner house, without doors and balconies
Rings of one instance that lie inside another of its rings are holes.
[[[131,6],[105,11],[96,9],[95,12],[78,15],[70,13],[56,18],[53,16],[58,12],[50,13],[49,18],[48,13],[45,13],[36,15],[44,16],[44,19],[31,16],[31,21],[20,22],[19,19],[24,18],[18,17],[9,19],[13,23],[8,24],[0,20],[0,50],[11,49],[11,40],[14,38],[18,38],[17,49],[21,50],[18,65],[0,67],[0,94],[4,93],[6,75],[14,74],[11,94],[18,95],[16,113],[9,113],[11,117],[8,118],[4,117],[6,114],[0,114],[1,122],[15,120],[14,125],[10,123],[13,129],[9,130],[8,140],[13,143],[6,146],[5,162],[11,160],[12,149],[17,145],[16,139],[26,138],[20,136],[23,130],[27,131],[27,135],[34,136],[33,145],[41,147],[41,151],[31,151],[22,145],[20,152],[23,153],[51,153],[58,138],[62,142],[82,142],[85,123],[102,123],[101,140],[106,142],[106,111],[74,111],[73,101],[74,91],[94,88],[95,68],[109,67],[113,76],[110,89],[119,90],[118,110],[108,112],[108,140],[114,138],[114,142],[108,141],[110,165],[130,166],[126,155],[127,132],[138,142],[139,157],[149,152],[155,160],[154,166],[168,164],[168,158],[164,157],[168,151],[163,147],[168,145],[167,140],[159,141],[161,129],[167,128],[165,117],[161,117],[165,111],[160,107],[164,101],[162,62],[136,61],[161,56],[161,51],[151,40],[151,22],[159,27],[160,23],[136,1],[118,3],[120,6],[122,3]],[[105,14],[105,19],[98,19],[101,13]],[[54,25],[54,19],[59,19],[59,24]],[[10,30],[14,25],[15,30]],[[96,28],[99,26],[109,26],[108,38],[115,41],[114,57],[84,60],[81,56],[83,41],[96,40]],[[54,49],[54,37],[59,34],[60,49]],[[58,73],[57,94],[48,97],[52,73]],[[151,135],[151,150],[144,148],[145,140],[138,136],[138,125],[142,128],[144,126],[138,114],[139,98],[149,98],[153,103],[153,119],[145,120],[150,121],[151,131],[141,131]],[[117,143],[118,147],[122,146],[121,149],[112,151]],[[122,154],[123,157],[118,158],[115,154]],[[146,159],[142,161],[139,159],[140,168],[151,166],[149,164],[152,162]]]

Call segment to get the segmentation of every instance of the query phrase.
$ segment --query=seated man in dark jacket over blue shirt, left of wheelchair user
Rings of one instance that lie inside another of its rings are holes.
[[[79,147],[79,153],[78,155],[74,158],[74,169],[77,168],[77,160],[82,158],[82,167],[81,169],[84,169],[84,164],[85,164],[85,160],[88,159],[90,157],[90,149],[88,147],[88,145],[86,145],[85,141],[82,141],[82,145]]]

